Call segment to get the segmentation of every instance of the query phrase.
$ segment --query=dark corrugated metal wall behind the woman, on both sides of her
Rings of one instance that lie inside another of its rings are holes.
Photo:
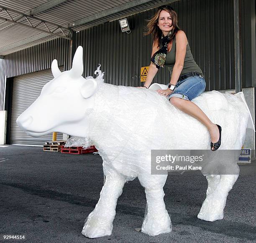
[[[206,90],[235,88],[233,0],[187,0],[172,6],[205,74]],[[121,32],[118,21],[79,32],[76,46],[84,48],[84,75],[92,75],[97,63],[101,63],[107,83],[140,85],[140,68],[149,65],[152,50],[151,36],[143,37],[143,26],[154,13],[153,9],[129,16],[130,34]],[[169,80],[165,68],[154,82]]]

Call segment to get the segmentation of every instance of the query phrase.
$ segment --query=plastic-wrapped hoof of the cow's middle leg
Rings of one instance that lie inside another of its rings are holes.
[[[144,218],[141,232],[147,235],[159,235],[172,231],[172,223],[169,214],[166,212],[159,215],[150,215],[148,213]]]

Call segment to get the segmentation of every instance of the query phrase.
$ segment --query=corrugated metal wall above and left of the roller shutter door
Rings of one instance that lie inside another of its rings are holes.
[[[58,60],[58,65],[64,65],[64,70],[69,69],[70,41],[55,39],[40,45],[35,45],[16,53],[5,56],[4,72],[9,77],[15,77],[26,73],[33,73],[51,68],[51,62]],[[0,59],[1,62],[2,59]],[[1,65],[1,63],[0,63]],[[2,68],[1,68],[2,70]],[[0,75],[0,110],[4,110],[5,80]]]

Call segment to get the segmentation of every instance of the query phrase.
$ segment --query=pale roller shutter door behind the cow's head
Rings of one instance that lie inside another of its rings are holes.
[[[63,67],[60,70],[63,71]],[[33,138],[20,130],[16,123],[18,116],[38,98],[43,86],[51,79],[53,75],[50,69],[17,76],[13,79],[10,144],[43,145],[45,141],[52,140],[52,133]],[[57,133],[57,140],[62,140],[62,133]]]

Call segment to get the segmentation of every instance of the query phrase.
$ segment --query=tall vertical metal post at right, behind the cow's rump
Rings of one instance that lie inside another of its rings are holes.
[[[240,57],[240,0],[234,0],[234,51],[235,51],[235,88],[236,93],[242,91],[241,57]]]

